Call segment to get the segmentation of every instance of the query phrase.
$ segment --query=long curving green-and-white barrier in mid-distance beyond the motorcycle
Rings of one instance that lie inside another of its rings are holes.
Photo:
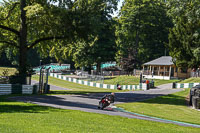
[[[84,81],[84,80],[79,80],[76,78],[69,78],[67,76],[63,76],[63,75],[59,75],[55,73],[50,73],[50,76],[54,78],[66,80],[69,82],[92,86],[92,87],[98,87],[98,88],[104,88],[104,89],[117,89],[117,85],[101,84],[101,83],[96,83],[96,82],[91,82],[91,81]],[[121,89],[122,90],[147,90],[147,84],[140,83],[139,85],[122,85]]]

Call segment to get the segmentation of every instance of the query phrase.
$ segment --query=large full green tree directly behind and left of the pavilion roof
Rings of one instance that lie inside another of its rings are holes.
[[[166,13],[166,3],[160,0],[124,1],[116,28],[117,59],[121,64],[132,58],[128,60],[133,69],[165,54],[171,26]]]

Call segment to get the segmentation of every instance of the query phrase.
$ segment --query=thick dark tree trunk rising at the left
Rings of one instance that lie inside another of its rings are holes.
[[[26,24],[26,0],[20,0],[21,10],[21,27],[20,27],[20,38],[19,38],[19,76],[21,78],[21,84],[26,84],[27,75],[27,24]]]

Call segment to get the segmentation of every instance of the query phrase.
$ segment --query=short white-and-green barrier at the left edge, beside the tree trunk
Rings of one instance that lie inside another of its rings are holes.
[[[36,94],[36,85],[0,84],[0,95],[8,94]]]

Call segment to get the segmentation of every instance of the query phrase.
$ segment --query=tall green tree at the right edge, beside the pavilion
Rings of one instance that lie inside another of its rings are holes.
[[[170,29],[169,50],[177,66],[200,66],[200,1],[170,0],[168,14],[174,27]]]

